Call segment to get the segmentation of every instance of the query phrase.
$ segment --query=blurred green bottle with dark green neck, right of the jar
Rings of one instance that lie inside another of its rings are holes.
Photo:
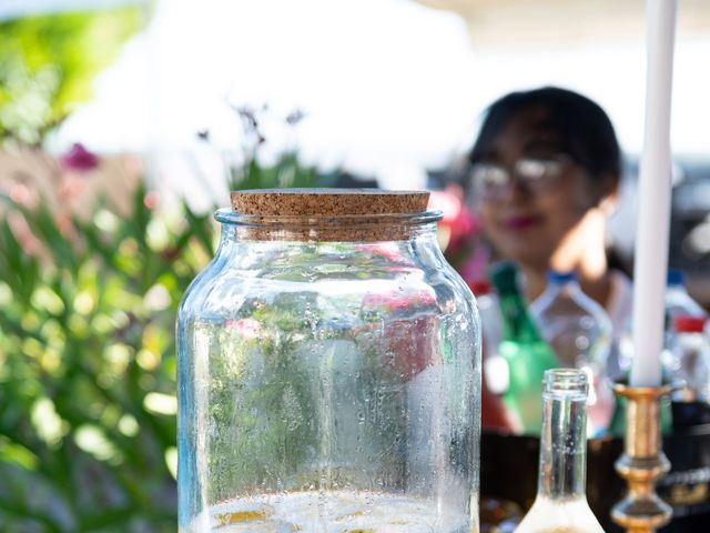
[[[545,371],[560,366],[555,352],[537,331],[518,286],[518,269],[504,262],[490,270],[503,320],[498,354],[507,363],[508,389],[503,401],[525,434],[540,434]]]

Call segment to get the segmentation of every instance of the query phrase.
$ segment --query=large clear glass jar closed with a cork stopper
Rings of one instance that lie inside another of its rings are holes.
[[[178,320],[180,531],[478,531],[480,325],[427,193],[241,191]]]

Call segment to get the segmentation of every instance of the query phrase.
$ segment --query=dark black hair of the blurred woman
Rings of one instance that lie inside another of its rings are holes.
[[[532,108],[547,111],[545,128],[559,135],[564,151],[592,178],[621,175],[621,151],[607,113],[587,97],[556,87],[511,92],[495,101],[488,108],[469,161],[480,160],[508,121]]]

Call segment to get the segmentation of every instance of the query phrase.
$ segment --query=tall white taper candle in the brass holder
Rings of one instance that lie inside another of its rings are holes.
[[[670,94],[676,0],[647,0],[646,132],[639,171],[632,386],[661,382],[663,292],[670,222]]]

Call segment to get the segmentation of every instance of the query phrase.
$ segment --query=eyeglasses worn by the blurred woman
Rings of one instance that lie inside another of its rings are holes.
[[[513,168],[481,161],[470,167],[469,180],[474,194],[483,200],[500,199],[514,180],[527,191],[545,194],[555,189],[571,163],[572,159],[564,153],[547,158],[521,158]]]

